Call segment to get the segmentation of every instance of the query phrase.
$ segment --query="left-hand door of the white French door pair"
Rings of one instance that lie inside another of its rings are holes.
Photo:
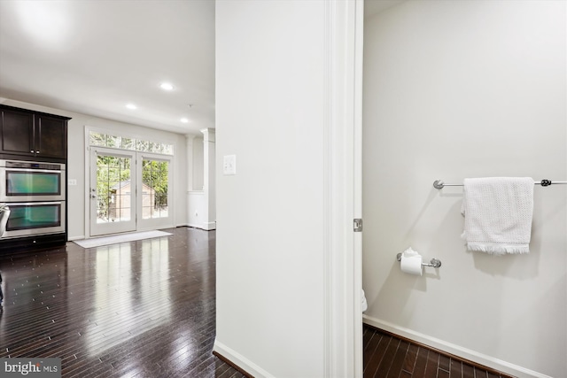
[[[136,230],[136,152],[91,147],[90,235]]]

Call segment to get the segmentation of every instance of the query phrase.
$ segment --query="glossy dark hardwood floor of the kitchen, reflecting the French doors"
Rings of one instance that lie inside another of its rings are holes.
[[[212,354],[215,232],[0,256],[0,358],[64,377],[243,377]]]

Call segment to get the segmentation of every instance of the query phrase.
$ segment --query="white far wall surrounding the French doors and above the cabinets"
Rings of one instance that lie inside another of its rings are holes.
[[[187,192],[187,163],[185,152],[186,143],[183,135],[160,131],[149,127],[116,122],[113,120],[105,120],[75,112],[66,112],[35,104],[22,103],[10,99],[6,99],[3,104],[72,118],[72,120],[69,120],[68,123],[68,163],[66,171],[67,179],[75,179],[77,181],[77,185],[68,187],[67,208],[69,240],[82,239],[85,235],[84,201],[87,197],[87,191],[85,189],[85,126],[104,128],[109,131],[124,133],[126,135],[135,135],[149,140],[174,143],[174,221],[175,226],[187,224],[187,197],[185,196],[185,193]]]

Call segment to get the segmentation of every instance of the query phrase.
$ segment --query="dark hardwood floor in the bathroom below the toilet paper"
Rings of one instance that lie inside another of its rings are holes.
[[[513,378],[364,325],[364,378]]]

